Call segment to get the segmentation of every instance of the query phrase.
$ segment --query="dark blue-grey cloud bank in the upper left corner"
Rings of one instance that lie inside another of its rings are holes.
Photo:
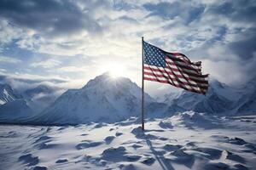
[[[101,31],[101,26],[71,1],[0,0],[0,16],[17,26],[25,26],[51,36],[83,29]]]

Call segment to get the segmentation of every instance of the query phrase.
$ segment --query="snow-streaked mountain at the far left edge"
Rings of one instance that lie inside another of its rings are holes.
[[[32,116],[26,100],[8,84],[0,84],[0,122],[19,122]]]

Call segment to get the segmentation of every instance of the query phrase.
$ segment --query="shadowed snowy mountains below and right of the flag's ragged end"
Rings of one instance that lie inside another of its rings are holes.
[[[247,86],[233,88],[218,80],[212,80],[206,96],[183,90],[176,94],[166,94],[163,102],[178,105],[187,111],[223,115],[253,114],[256,111],[256,88]]]

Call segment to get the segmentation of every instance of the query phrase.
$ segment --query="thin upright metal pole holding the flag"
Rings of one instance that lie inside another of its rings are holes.
[[[142,45],[143,45],[143,37],[142,37]],[[142,46],[142,55],[143,55],[143,60],[142,60],[142,66],[144,67],[144,45]],[[144,68],[143,69],[143,75],[142,75],[142,129],[144,130]]]

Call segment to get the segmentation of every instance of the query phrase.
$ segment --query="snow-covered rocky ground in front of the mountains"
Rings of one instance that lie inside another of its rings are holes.
[[[256,116],[0,126],[0,169],[255,169]]]

